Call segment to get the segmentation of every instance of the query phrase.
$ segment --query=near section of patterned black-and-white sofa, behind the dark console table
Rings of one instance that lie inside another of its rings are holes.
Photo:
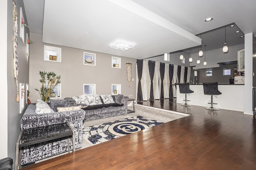
[[[67,100],[50,100],[50,106],[54,111],[57,107],[68,107]],[[34,127],[44,127],[68,122],[75,133],[75,148],[82,147],[82,130],[85,111],[82,109],[72,111],[60,111],[54,113],[37,114],[36,105],[29,104],[20,120],[21,129]],[[21,165],[35,162],[50,156],[68,151],[67,138],[56,139],[40,144],[30,145],[22,148]],[[70,147],[73,149],[72,137],[70,137]]]

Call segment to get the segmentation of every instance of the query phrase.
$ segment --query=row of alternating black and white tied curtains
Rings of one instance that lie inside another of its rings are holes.
[[[176,83],[190,80],[190,67],[148,60],[137,60],[137,100],[176,97]]]

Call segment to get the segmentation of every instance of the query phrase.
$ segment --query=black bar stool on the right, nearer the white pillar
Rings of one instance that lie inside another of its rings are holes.
[[[209,110],[220,110],[220,109],[216,109],[213,107],[213,104],[217,104],[217,103],[213,103],[213,98],[212,96],[214,95],[220,95],[222,94],[219,90],[218,90],[218,82],[212,82],[212,83],[203,83],[203,87],[204,87],[204,94],[205,95],[211,95],[211,102],[208,104],[211,104],[211,107],[205,107],[205,109],[209,109]]]

